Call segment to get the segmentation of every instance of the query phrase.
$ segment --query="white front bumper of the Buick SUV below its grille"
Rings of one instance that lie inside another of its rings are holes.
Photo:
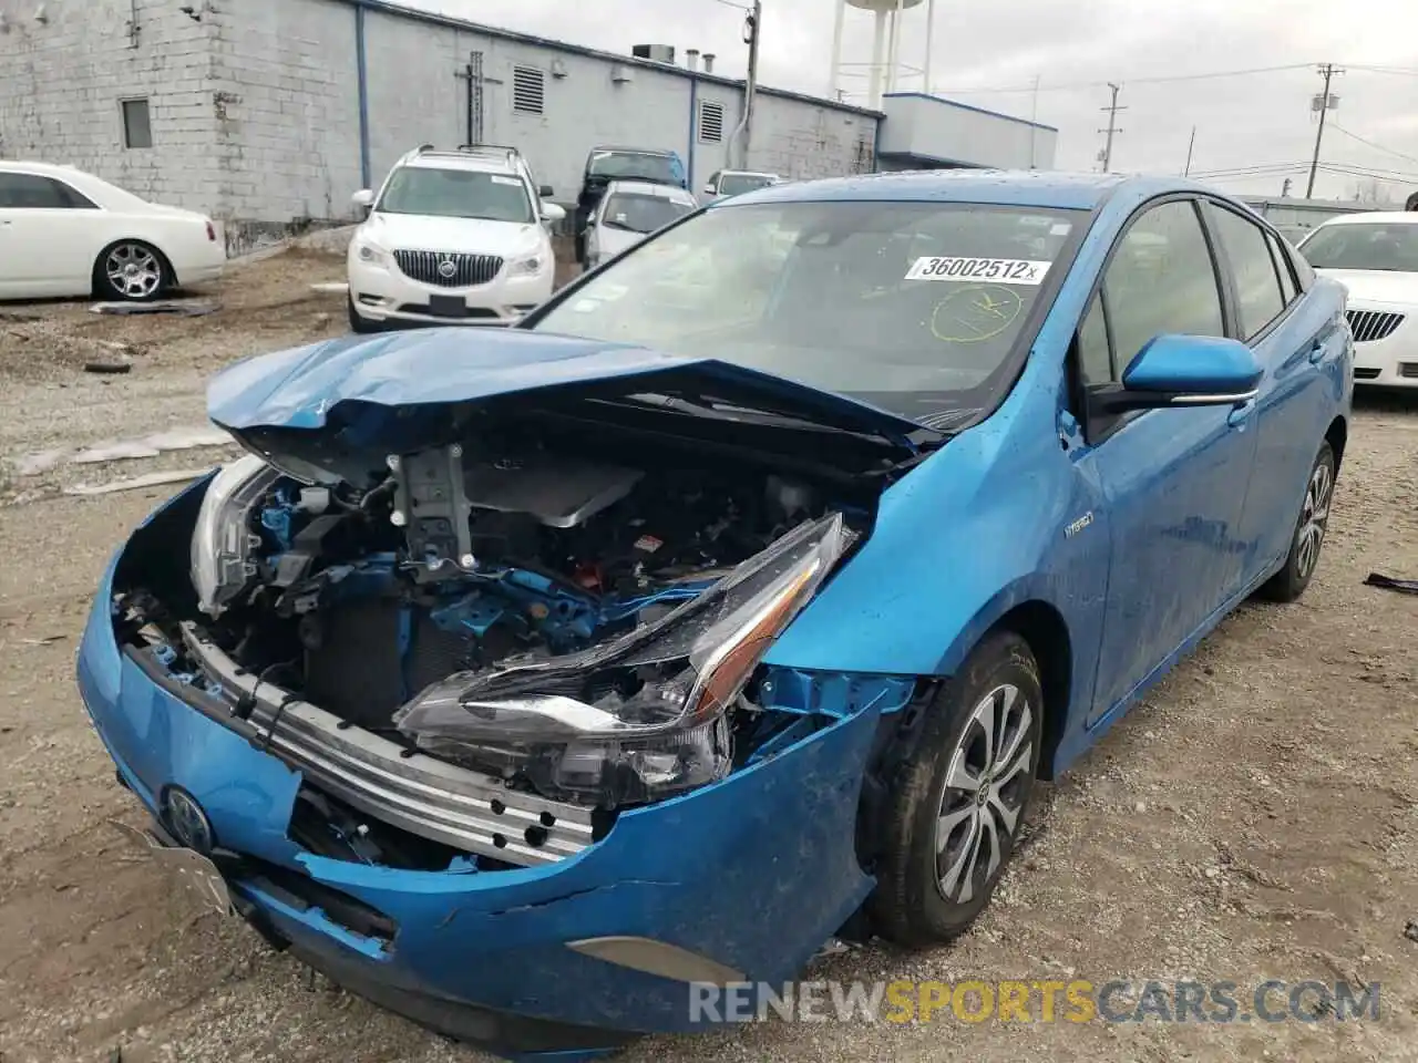
[[[512,276],[505,265],[489,283],[474,288],[440,288],[404,276],[389,262],[374,265],[353,251],[349,257],[350,302],[373,323],[414,325],[512,325],[552,296],[556,264],[547,258],[542,271]],[[432,302],[452,299],[458,313],[435,310]]]

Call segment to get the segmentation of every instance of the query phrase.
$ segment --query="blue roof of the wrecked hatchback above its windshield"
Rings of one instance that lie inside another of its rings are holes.
[[[753,203],[915,200],[1092,210],[1123,187],[1144,194],[1208,191],[1205,186],[1178,177],[1042,170],[922,170],[771,184],[735,196],[722,204],[739,207]]]

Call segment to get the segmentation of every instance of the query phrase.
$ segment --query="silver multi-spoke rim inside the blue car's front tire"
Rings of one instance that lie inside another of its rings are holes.
[[[1000,872],[1024,808],[1032,726],[1028,699],[1008,683],[966,721],[936,819],[936,882],[947,901],[968,904]]]

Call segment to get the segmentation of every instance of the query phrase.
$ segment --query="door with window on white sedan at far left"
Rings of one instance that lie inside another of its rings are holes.
[[[65,181],[0,170],[0,293],[88,295],[98,255],[98,206]]]

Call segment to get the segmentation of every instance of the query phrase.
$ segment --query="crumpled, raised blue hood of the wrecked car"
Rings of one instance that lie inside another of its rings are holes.
[[[220,373],[207,390],[207,412],[235,432],[259,428],[320,429],[342,404],[447,407],[493,404],[532,391],[604,395],[624,380],[624,394],[703,388],[752,405],[852,431],[903,438],[922,425],[832,391],[713,359],[689,359],[624,343],[523,329],[428,329],[345,337],[264,354]]]

